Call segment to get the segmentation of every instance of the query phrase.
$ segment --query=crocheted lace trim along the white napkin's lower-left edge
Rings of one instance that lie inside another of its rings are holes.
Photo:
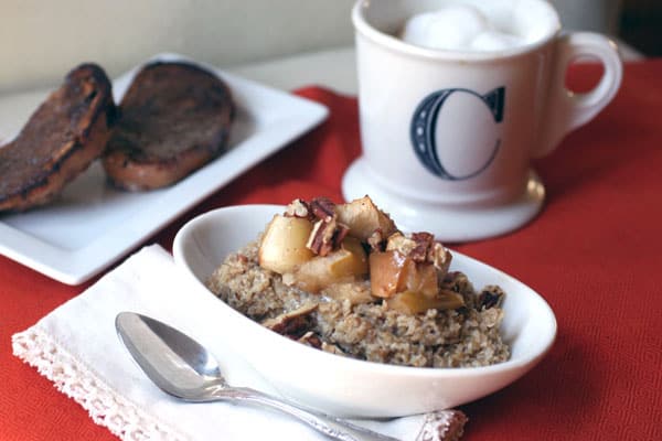
[[[185,440],[186,437],[116,394],[50,335],[33,326],[12,336],[13,354],[36,368],[55,388],[122,440]]]

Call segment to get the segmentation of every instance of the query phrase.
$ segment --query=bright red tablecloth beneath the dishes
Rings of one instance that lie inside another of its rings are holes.
[[[574,80],[591,75],[578,71]],[[322,88],[319,128],[182,216],[327,195],[360,153],[356,100]],[[453,247],[538,291],[558,320],[549,355],[513,386],[463,407],[467,440],[662,440],[662,60],[629,64],[616,100],[538,161],[548,194],[533,223]],[[11,335],[86,286],[67,287],[0,257],[0,439],[115,439],[11,355]],[[387,387],[387,385],[385,385]],[[276,437],[277,439],[277,437]]]

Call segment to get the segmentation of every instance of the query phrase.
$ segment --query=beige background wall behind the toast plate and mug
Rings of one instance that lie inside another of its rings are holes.
[[[555,2],[569,28],[612,30],[620,0]],[[84,61],[95,61],[117,76],[166,51],[224,67],[351,45],[353,3],[0,0],[0,95],[57,84]]]

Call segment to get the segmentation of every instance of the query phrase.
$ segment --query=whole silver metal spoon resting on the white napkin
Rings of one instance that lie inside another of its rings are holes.
[[[193,338],[158,320],[120,312],[115,327],[145,374],[163,391],[192,402],[229,400],[287,413],[329,438],[342,441],[397,441],[340,418],[305,409],[246,387],[232,387],[214,356]]]

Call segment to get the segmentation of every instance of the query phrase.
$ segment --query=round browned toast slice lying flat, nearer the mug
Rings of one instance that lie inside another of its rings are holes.
[[[109,181],[128,191],[173,184],[216,158],[235,114],[223,80],[179,62],[145,66],[119,108],[103,162]]]

